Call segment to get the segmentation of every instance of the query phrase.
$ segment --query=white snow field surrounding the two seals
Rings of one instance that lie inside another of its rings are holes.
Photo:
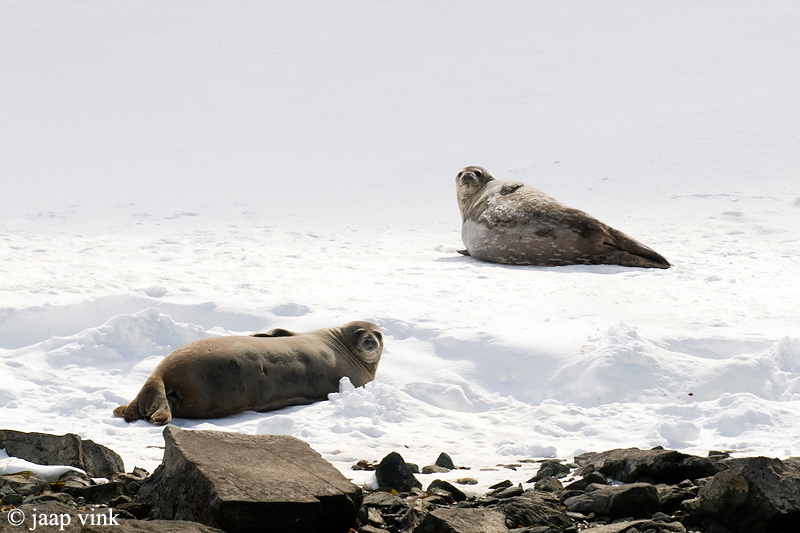
[[[291,434],[358,482],[446,451],[475,491],[613,447],[800,454],[796,2],[0,15],[0,427],[152,471],[161,429],[111,411],[171,350],[370,320],[366,387],[175,425]],[[460,256],[473,164],[674,267]]]

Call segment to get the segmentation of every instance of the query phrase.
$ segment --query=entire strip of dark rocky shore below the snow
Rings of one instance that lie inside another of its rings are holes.
[[[354,469],[375,470],[373,490],[292,437],[167,427],[164,438],[151,475],[125,473],[113,451],[76,435],[0,430],[11,457],[79,469],[57,479],[35,469],[0,476],[0,531],[800,531],[800,458],[617,449],[535,461],[532,478],[470,494],[468,468],[453,483],[423,487],[417,478],[456,469],[446,453],[422,469],[398,453],[359,461]]]

